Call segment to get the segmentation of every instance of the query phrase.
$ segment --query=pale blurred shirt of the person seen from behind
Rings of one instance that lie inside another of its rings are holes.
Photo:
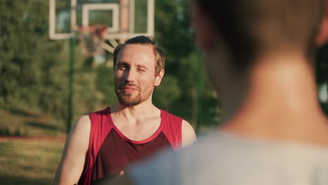
[[[213,132],[130,168],[136,185],[328,185],[328,147]]]

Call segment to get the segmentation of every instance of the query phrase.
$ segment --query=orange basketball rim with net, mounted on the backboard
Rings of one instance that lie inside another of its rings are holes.
[[[82,53],[88,57],[104,55],[104,34],[107,25],[89,25],[78,27],[78,39],[81,42]]]

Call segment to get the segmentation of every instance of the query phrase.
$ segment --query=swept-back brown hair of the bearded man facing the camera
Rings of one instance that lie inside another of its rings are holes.
[[[160,71],[162,69],[164,69],[165,67],[165,54],[163,52],[163,50],[160,50],[160,48],[157,47],[157,44],[154,41],[151,41],[151,39],[149,39],[146,36],[136,36],[133,37],[132,39],[128,39],[127,41],[125,41],[125,43],[121,43],[118,46],[116,46],[115,50],[114,50],[114,70],[115,70],[115,66],[116,66],[116,60],[118,57],[118,54],[120,53],[120,51],[122,50],[122,48],[124,48],[124,46],[128,45],[128,44],[139,44],[142,46],[152,46],[153,50],[155,52],[155,75],[158,75],[160,73]]]

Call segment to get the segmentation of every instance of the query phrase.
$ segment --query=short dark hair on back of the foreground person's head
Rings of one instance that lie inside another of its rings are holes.
[[[313,57],[324,0],[196,0],[221,34],[235,66],[260,53],[297,51]]]

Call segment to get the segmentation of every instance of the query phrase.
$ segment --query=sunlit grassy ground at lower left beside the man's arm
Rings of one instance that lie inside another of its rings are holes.
[[[52,184],[64,142],[64,124],[31,109],[0,109],[0,135],[40,137],[0,139],[0,184]]]

